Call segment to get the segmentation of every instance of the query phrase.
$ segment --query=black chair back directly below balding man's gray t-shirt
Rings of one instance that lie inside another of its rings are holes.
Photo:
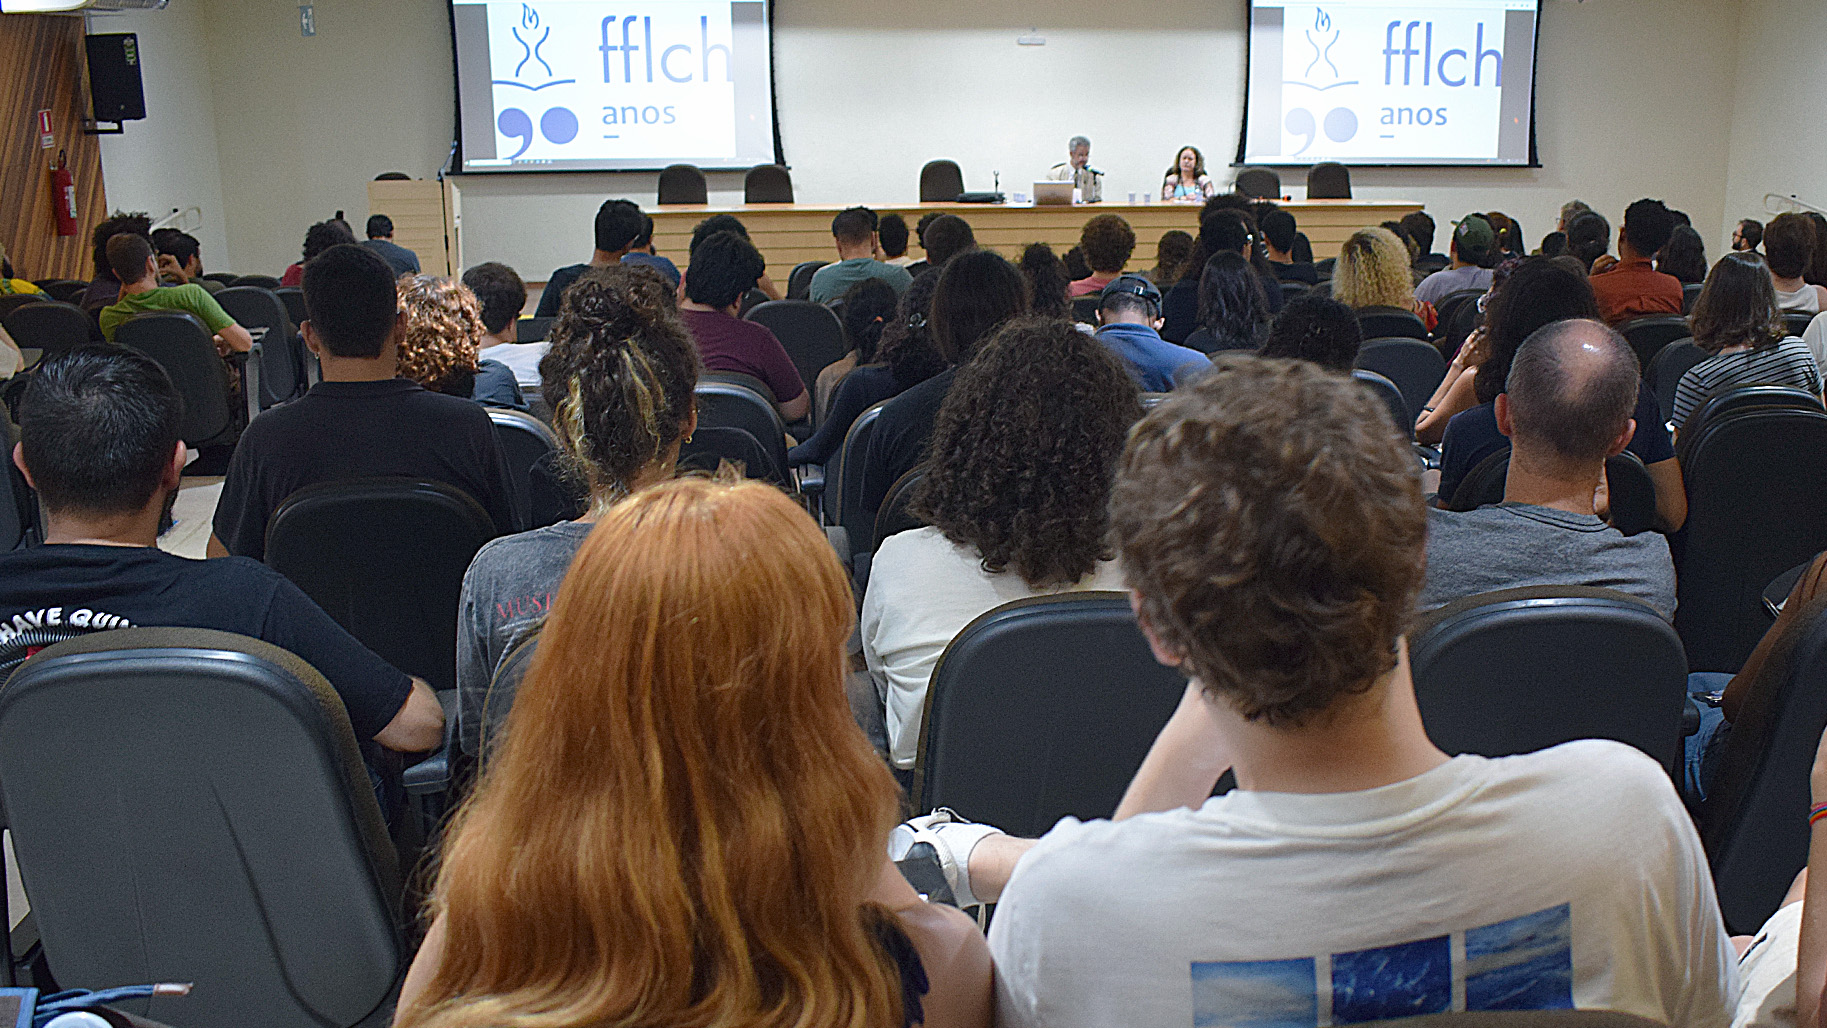
[[[1617,740],[1681,765],[1688,661],[1655,610],[1615,590],[1538,586],[1465,597],[1409,634],[1434,745],[1509,756]]]

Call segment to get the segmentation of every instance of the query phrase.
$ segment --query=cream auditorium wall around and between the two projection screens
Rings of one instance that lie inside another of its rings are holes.
[[[1615,221],[1632,199],[1659,195],[1690,212],[1717,248],[1739,210],[1725,205],[1728,142],[1752,131],[1732,104],[1747,79],[1736,53],[1750,31],[1739,7],[1763,4],[1546,0],[1544,168],[1357,170],[1357,194],[1416,199],[1440,221],[1494,206],[1518,217],[1531,243],[1569,197]],[[179,205],[133,164],[214,153],[221,201],[205,217],[225,232],[236,270],[294,261],[305,226],[338,208],[360,228],[373,175],[429,177],[446,161],[455,121],[446,0],[318,0],[311,38],[292,0],[172,0],[166,11],[106,22],[143,33],[148,55],[177,55],[185,69],[174,89],[199,99],[186,117],[132,124],[110,144],[110,197]],[[1093,137],[1109,197],[1156,188],[1186,142],[1228,177],[1242,104],[1242,0],[776,0],[775,22],[782,144],[802,201],[912,201],[930,157],[956,159],[970,188],[988,188],[1001,172],[1005,190],[1021,190],[1076,131]],[[1018,47],[1029,29],[1047,44]],[[188,37],[203,55],[183,57],[185,44],[164,37]],[[117,181],[135,188],[117,192]],[[588,256],[588,219],[603,197],[650,203],[652,181],[468,175],[466,257],[504,259],[543,279]],[[1288,184],[1301,195],[1297,177]],[[711,188],[713,203],[740,201],[740,175],[713,175]]]

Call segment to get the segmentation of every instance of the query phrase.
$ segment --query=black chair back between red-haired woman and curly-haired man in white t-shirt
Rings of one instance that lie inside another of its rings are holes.
[[[914,807],[1036,838],[1107,818],[1186,677],[1155,661],[1127,593],[1018,599],[977,617],[932,672]]]

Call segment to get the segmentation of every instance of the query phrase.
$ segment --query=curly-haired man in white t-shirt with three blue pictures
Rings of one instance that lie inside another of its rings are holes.
[[[1427,740],[1401,643],[1427,520],[1368,393],[1228,354],[1131,433],[1111,522],[1191,679],[1114,820],[1030,844],[939,813],[890,840],[999,902],[999,1024],[1343,1024],[1456,1008],[1462,981],[1471,1010],[1730,1021],[1736,953],[1659,765]]]

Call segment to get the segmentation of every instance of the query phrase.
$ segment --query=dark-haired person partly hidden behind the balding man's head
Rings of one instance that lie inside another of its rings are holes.
[[[1442,433],[1442,506],[1452,502],[1452,493],[1473,467],[1507,446],[1496,424],[1496,396],[1509,380],[1511,362],[1522,341],[1555,321],[1597,318],[1599,303],[1593,299],[1588,278],[1564,267],[1558,257],[1522,261],[1491,292],[1484,329],[1474,332],[1452,360],[1447,371],[1452,385],[1443,385],[1445,391],[1434,394],[1429,405],[1438,409],[1423,414],[1416,429],[1416,435],[1420,427]],[[1681,480],[1675,447],[1663,425],[1661,402],[1655,391],[1641,382],[1632,418],[1637,422],[1637,431],[1630,436],[1630,451],[1642,460],[1650,480],[1655,482],[1657,526],[1663,531],[1675,531],[1688,519],[1686,486]]]

